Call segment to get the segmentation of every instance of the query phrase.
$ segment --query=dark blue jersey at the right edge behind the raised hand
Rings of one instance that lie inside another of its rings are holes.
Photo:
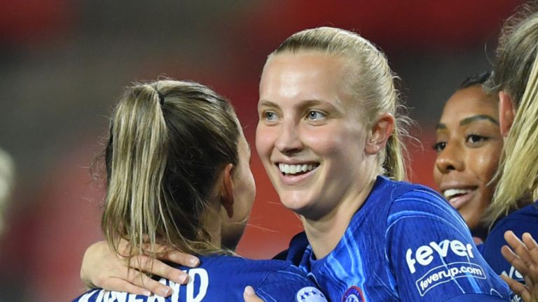
[[[530,233],[534,238],[538,238],[538,201],[500,219],[481,246],[485,261],[488,261],[495,273],[524,282],[523,276],[501,254],[501,247],[508,245],[504,240],[504,232],[508,230],[513,231],[519,238],[523,233]],[[523,300],[517,296],[513,301]]]

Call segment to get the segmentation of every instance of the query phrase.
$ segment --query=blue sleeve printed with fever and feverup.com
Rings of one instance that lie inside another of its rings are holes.
[[[469,294],[509,300],[465,222],[436,192],[413,189],[395,199],[385,240],[401,301],[466,301],[458,299]]]

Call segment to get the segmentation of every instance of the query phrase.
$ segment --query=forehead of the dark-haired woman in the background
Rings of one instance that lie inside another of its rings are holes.
[[[499,108],[497,101],[485,94],[480,86],[460,89],[450,96],[445,104],[441,121],[447,119],[461,120],[472,115],[489,115],[497,120]]]

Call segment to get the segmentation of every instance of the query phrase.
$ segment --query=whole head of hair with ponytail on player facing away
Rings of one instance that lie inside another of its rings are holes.
[[[126,89],[105,152],[106,240],[150,254],[156,243],[189,254],[219,252],[202,217],[226,164],[237,164],[240,129],[230,103],[195,82],[159,80]],[[149,243],[150,248],[143,248]]]

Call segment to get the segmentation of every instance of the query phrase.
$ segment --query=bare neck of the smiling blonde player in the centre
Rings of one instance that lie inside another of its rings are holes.
[[[338,245],[354,213],[364,204],[374,183],[375,177],[367,180],[358,191],[347,194],[336,207],[320,219],[311,220],[301,215],[308,242],[317,259],[322,259]]]

